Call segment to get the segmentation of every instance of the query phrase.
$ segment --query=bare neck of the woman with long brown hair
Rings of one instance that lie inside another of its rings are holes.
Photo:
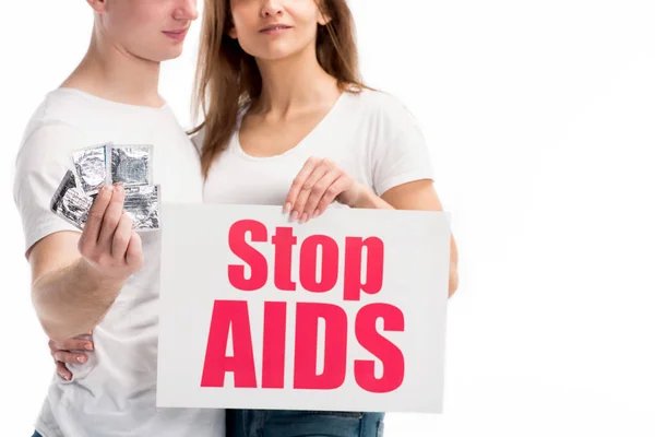
[[[333,103],[341,91],[337,81],[317,60],[313,47],[275,61],[258,60],[262,75],[262,94],[253,110],[285,118],[289,114]]]

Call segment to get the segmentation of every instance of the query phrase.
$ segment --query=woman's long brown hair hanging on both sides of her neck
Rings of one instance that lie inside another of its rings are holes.
[[[346,0],[317,0],[317,4],[330,17],[317,33],[319,64],[344,92],[367,87],[359,79],[355,24]],[[201,152],[205,178],[234,133],[239,111],[262,92],[254,58],[227,35],[233,25],[229,0],[205,0],[193,94],[194,115],[201,110],[204,121],[189,132],[205,128]]]

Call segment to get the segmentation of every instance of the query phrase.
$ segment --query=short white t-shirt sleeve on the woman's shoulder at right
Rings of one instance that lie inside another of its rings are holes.
[[[378,196],[403,184],[434,177],[428,145],[416,118],[397,101],[384,113],[384,133],[371,156],[373,190]]]

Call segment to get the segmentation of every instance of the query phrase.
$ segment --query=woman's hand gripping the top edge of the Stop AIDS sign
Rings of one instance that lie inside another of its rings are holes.
[[[365,186],[332,161],[310,157],[291,184],[284,212],[291,212],[293,222],[299,218],[305,223],[324,213],[335,200],[356,206],[365,191]]]

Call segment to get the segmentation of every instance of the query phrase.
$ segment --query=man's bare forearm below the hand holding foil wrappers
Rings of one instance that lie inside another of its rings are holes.
[[[80,258],[34,281],[32,300],[46,334],[63,341],[93,329],[114,304],[122,284],[103,279]]]

